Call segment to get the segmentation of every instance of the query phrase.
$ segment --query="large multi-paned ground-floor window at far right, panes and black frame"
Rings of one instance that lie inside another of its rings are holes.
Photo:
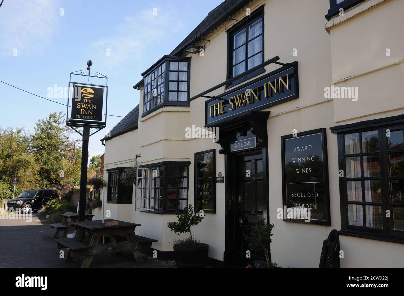
[[[403,132],[391,125],[338,133],[343,230],[404,239]]]

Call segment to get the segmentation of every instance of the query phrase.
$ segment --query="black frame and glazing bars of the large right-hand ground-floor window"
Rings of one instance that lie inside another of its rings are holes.
[[[337,133],[337,141],[338,141],[338,158],[339,158],[339,171],[343,170],[344,176],[339,177],[339,191],[340,191],[340,206],[341,206],[341,234],[350,235],[354,237],[363,237],[369,239],[377,239],[382,241],[391,241],[398,242],[404,244],[404,231],[394,230],[394,216],[393,216],[393,206],[404,208],[404,204],[398,204],[392,202],[391,197],[391,180],[403,180],[404,176],[390,176],[390,168],[389,168],[389,155],[393,153],[403,153],[404,148],[389,151],[389,138],[386,136],[386,130],[390,130],[391,132],[396,130],[402,130],[404,137],[404,121],[397,122],[393,118],[393,121],[389,123],[389,120],[372,120],[368,122],[363,122],[361,126],[359,124],[354,124],[352,127],[334,127],[331,130],[335,130]],[[348,125],[349,126],[349,125]],[[339,130],[339,131],[338,131]],[[362,149],[362,133],[375,131],[378,132],[378,152],[363,152]],[[360,150],[358,153],[345,153],[345,135],[346,134],[354,134],[359,133],[359,143]],[[380,168],[380,178],[378,177],[365,177],[364,176],[364,166],[363,166],[363,156],[368,155],[379,155],[379,168]],[[357,178],[347,178],[346,174],[346,157],[360,157],[360,168],[361,168],[361,176]],[[381,181],[381,206],[382,206],[382,215],[383,215],[383,228],[371,228],[366,227],[366,205],[368,206],[380,206],[378,202],[366,202],[366,192],[364,188],[364,181],[368,180],[380,180]],[[362,193],[362,202],[349,202],[347,200],[347,181],[361,181],[361,193]],[[363,214],[363,223],[364,226],[354,226],[348,225],[348,204],[361,204],[362,214]],[[386,217],[386,210],[390,210],[390,217]]]

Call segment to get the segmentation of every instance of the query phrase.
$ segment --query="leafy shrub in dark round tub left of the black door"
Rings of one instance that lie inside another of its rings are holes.
[[[189,233],[186,239],[179,239],[174,242],[175,263],[178,268],[204,267],[208,263],[209,245],[201,243],[195,239],[195,225],[198,225],[203,215],[194,212],[192,205],[188,205],[183,213],[177,213],[178,222],[169,222],[168,228],[177,235]],[[192,237],[191,227],[193,227],[194,237]]]

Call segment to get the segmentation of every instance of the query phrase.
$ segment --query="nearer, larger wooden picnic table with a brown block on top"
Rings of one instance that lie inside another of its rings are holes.
[[[94,255],[110,252],[120,254],[124,251],[131,251],[137,263],[144,262],[140,250],[151,248],[151,244],[157,240],[135,235],[135,229],[141,226],[140,224],[114,219],[105,220],[105,222],[112,221],[118,222],[118,225],[106,226],[102,220],[73,222],[72,225],[76,229],[74,239],[55,239],[59,249],[69,248],[65,261],[71,261],[74,257],[84,256],[81,268],[88,268]],[[83,239],[85,231],[90,234],[89,243],[88,239]],[[103,244],[101,240],[102,236],[108,237],[109,243]],[[122,240],[122,237],[124,240]]]

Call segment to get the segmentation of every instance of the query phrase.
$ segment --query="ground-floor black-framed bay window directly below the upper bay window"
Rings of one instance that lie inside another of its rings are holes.
[[[138,168],[136,209],[155,212],[183,211],[188,205],[189,164],[162,162],[147,168]]]

